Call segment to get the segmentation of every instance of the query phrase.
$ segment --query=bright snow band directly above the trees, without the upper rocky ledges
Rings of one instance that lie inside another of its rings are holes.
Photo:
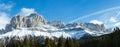
[[[44,29],[47,30],[47,29]],[[20,30],[13,30],[10,32],[7,32],[5,34],[1,34],[0,38],[4,38],[4,37],[14,37],[14,36],[18,36],[18,37],[24,37],[26,35],[31,35],[31,36],[44,36],[44,37],[49,37],[49,38],[59,38],[61,36],[63,36],[64,38],[70,37],[70,38],[81,38],[83,37],[85,34],[90,34],[93,36],[100,36],[100,35],[104,35],[104,34],[109,34],[111,32],[98,32],[98,31],[90,31],[88,29],[86,30],[73,30],[73,31],[57,31],[55,29],[48,29],[50,31],[32,31],[32,30],[28,30],[26,28],[22,28]]]

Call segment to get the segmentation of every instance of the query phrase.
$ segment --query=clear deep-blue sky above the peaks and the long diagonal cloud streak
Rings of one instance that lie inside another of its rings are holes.
[[[21,8],[34,8],[47,20],[68,22],[78,17],[120,5],[120,0],[1,0],[1,3],[14,4],[9,12],[13,17]]]

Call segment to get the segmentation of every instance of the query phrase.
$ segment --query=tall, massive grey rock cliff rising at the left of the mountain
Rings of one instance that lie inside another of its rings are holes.
[[[33,13],[26,17],[18,15],[12,18],[5,30],[39,27],[42,24],[47,24],[47,21],[39,14]]]

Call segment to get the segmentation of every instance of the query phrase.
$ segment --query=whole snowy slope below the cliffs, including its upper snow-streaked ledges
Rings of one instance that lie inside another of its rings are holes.
[[[31,36],[44,36],[49,38],[59,38],[63,36],[64,38],[71,37],[71,38],[81,38],[85,34],[90,34],[93,36],[100,36],[103,34],[108,34],[111,32],[103,32],[103,31],[91,31],[89,28],[81,29],[82,26],[69,26],[62,29],[56,28],[51,25],[41,25],[41,27],[32,27],[32,28],[21,28],[21,29],[14,29],[13,31],[9,31],[7,33],[1,34],[0,38],[4,37],[24,37],[26,35]]]

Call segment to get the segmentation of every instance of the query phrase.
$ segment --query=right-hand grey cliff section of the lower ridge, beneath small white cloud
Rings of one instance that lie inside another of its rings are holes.
[[[98,25],[93,23],[73,23],[73,26],[80,26],[82,29],[88,29],[90,31],[105,31],[104,25]]]

